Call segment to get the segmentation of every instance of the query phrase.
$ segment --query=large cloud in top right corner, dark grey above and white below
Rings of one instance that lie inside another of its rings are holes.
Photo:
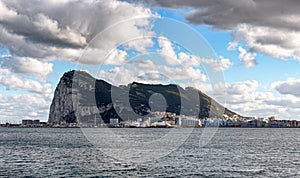
[[[148,0],[152,6],[191,9],[190,23],[230,31],[252,52],[300,60],[300,1]]]

